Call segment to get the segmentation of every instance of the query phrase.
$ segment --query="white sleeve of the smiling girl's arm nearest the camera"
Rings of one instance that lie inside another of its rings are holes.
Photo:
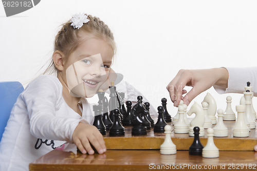
[[[22,97],[27,105],[30,132],[34,137],[72,142],[72,133],[81,121],[55,116],[62,98],[62,85],[57,78],[49,75],[36,78],[26,87]]]

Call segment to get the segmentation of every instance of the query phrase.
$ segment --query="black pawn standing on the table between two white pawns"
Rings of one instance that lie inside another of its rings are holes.
[[[194,127],[194,141],[192,145],[189,147],[189,155],[201,156],[201,152],[203,151],[204,146],[201,145],[199,131],[200,128],[198,126]]]

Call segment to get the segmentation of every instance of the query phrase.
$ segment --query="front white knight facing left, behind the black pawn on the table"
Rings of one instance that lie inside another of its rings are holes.
[[[188,111],[188,115],[191,116],[192,113],[195,113],[194,119],[190,122],[189,127],[189,136],[194,137],[194,127],[198,126],[200,128],[199,137],[203,137],[205,135],[205,113],[204,109],[196,102],[191,106]]]

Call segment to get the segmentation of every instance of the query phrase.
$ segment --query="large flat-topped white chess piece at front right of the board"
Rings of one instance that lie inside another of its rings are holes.
[[[233,128],[234,137],[249,137],[249,128],[245,123],[245,105],[236,105],[237,120]]]

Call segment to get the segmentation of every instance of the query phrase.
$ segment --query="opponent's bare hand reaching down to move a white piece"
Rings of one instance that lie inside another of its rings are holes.
[[[183,100],[186,105],[201,92],[209,89],[213,85],[218,85],[227,88],[228,86],[228,71],[226,68],[212,68],[199,70],[179,70],[176,77],[169,83],[167,89],[174,106],[178,106],[180,100]],[[193,88],[187,93],[183,90],[185,86]],[[182,94],[186,94],[185,97]]]

